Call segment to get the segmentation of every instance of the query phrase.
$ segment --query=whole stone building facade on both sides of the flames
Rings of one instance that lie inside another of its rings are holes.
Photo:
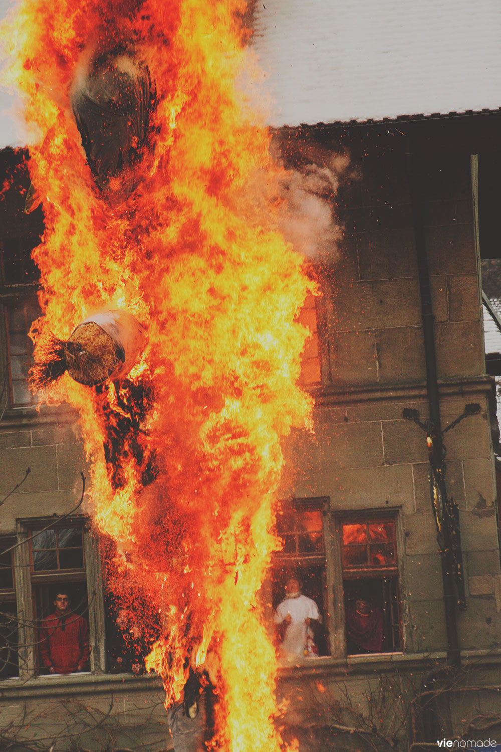
[[[501,663],[498,447],[493,381],[484,362],[478,223],[478,165],[481,152],[487,159],[496,148],[493,117],[279,134],[286,159],[299,169],[305,145],[318,155],[349,153],[351,164],[334,201],[343,239],[313,263],[321,295],[302,314],[312,331],[303,382],[315,397],[314,431],[295,432],[284,447],[279,532],[287,542],[273,559],[264,592],[271,624],[271,607],[294,572],[323,617],[319,655],[285,660],[279,669],[278,698],[287,700],[279,723],[285,734],[296,735],[302,752],[352,748],[354,739],[359,749],[373,743],[406,749],[434,735],[478,738],[475,729],[501,716],[493,690]],[[429,417],[430,402],[418,215],[406,171],[410,149],[435,322],[445,480],[459,508],[467,607],[454,605],[461,665],[450,669],[427,435],[418,425]],[[4,214],[4,260],[20,259],[17,254],[43,230],[41,217],[26,220],[22,208],[22,199],[13,196],[9,217]],[[20,321],[19,302],[32,299],[36,279],[9,277],[10,268],[4,262],[0,301],[6,313],[0,331],[2,499],[30,472],[0,512],[2,610],[20,617],[19,663],[9,659],[11,668],[3,669],[0,681],[0,738],[16,729],[19,739],[28,746],[36,741],[38,748],[55,740],[59,749],[71,743],[169,749],[158,679],[107,673],[98,549],[86,529],[85,499],[75,509],[85,473],[83,447],[68,408],[37,411],[23,404],[31,399],[21,385],[29,353],[16,350],[22,326],[14,323]],[[466,405],[475,408],[453,426]],[[83,537],[72,534],[70,546],[58,532],[47,543],[56,552],[53,573],[42,575],[36,565],[42,547],[30,538],[54,515],[68,515],[58,530],[83,529]],[[71,584],[88,613],[92,663],[86,675],[37,675],[34,624],[58,578]],[[385,620],[384,641],[365,654],[346,640],[346,614],[361,594]],[[494,735],[496,726],[488,729]]]

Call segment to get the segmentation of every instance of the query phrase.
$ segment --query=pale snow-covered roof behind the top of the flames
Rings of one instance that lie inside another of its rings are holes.
[[[253,46],[273,125],[501,107],[499,0],[258,0]],[[16,106],[0,147],[24,143]]]

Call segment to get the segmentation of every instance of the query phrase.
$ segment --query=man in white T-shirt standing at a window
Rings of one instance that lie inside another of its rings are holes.
[[[276,608],[275,623],[285,624],[280,652],[288,660],[318,655],[311,627],[312,622],[320,621],[321,617],[315,601],[303,596],[301,587],[300,580],[289,578],[285,584],[285,599]]]

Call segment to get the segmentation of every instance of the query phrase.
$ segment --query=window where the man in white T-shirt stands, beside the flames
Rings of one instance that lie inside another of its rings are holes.
[[[276,621],[282,612],[292,610],[293,614],[290,626],[286,623],[288,614],[285,614],[276,629],[276,647],[284,660],[297,662],[330,655],[328,593],[331,589],[327,587],[324,535],[326,503],[326,499],[294,499],[285,503],[277,516],[276,532],[282,538],[283,549],[273,556],[271,599]],[[288,583],[292,580],[297,581],[304,596],[301,602],[291,597],[294,593],[290,592],[290,587],[288,592]],[[294,627],[296,618],[298,626]],[[302,626],[306,618],[310,620],[307,629]],[[293,628],[297,629],[297,639],[293,638]]]

